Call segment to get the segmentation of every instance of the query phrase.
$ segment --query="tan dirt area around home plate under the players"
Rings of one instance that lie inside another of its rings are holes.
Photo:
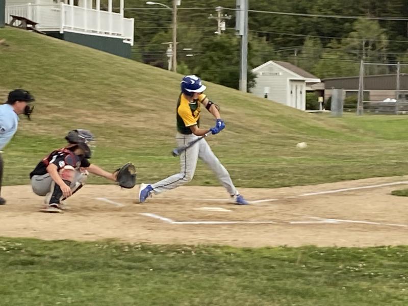
[[[221,187],[186,186],[137,204],[138,187],[88,185],[64,214],[38,212],[30,186],[3,188],[0,236],[234,246],[408,244],[408,176],[279,189],[242,188],[236,206]],[[314,194],[316,193],[316,194]]]

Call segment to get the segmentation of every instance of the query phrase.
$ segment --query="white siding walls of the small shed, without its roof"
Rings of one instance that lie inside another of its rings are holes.
[[[262,75],[263,74],[263,75]],[[272,75],[273,74],[273,75]],[[277,75],[275,75],[277,74]],[[251,93],[259,97],[264,97],[265,87],[269,87],[268,99],[282,104],[287,104],[288,79],[293,78],[284,69],[274,65],[268,65],[257,71],[256,86],[251,89]]]

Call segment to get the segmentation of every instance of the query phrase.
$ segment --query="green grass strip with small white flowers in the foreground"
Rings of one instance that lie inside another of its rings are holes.
[[[406,305],[408,247],[0,238],[2,305]]]

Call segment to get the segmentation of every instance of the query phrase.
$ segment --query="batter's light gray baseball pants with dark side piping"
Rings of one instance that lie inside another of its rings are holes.
[[[188,144],[198,137],[199,136],[195,136],[194,134],[185,135],[177,133],[177,146]],[[231,180],[230,173],[228,173],[225,167],[214,155],[210,145],[205,139],[196,142],[192,147],[188,148],[180,155],[180,173],[171,175],[167,177],[167,179],[151,185],[154,192],[156,194],[162,193],[191,182],[198,159],[207,164],[231,196],[238,194],[238,191]]]

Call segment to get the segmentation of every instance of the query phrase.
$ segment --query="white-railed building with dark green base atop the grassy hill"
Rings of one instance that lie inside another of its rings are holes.
[[[0,0],[0,13],[1,4]],[[134,19],[124,18],[124,0],[119,12],[101,9],[100,0],[6,0],[2,16],[10,23],[10,15],[37,22],[36,28],[66,41],[130,58],[134,38]],[[1,20],[1,18],[0,18]]]

